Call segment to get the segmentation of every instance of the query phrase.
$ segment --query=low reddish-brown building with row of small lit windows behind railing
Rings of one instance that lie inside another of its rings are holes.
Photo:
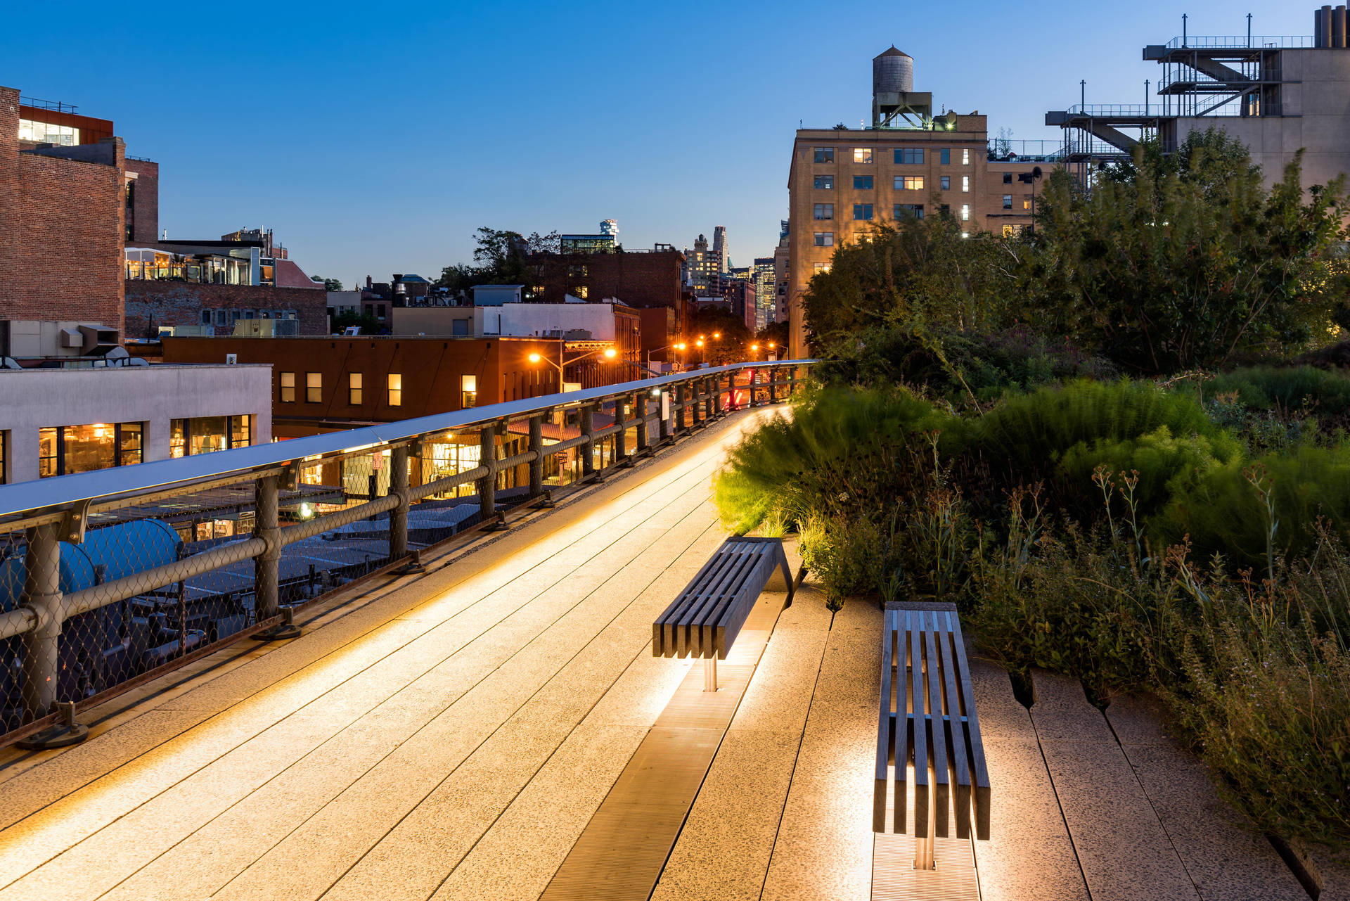
[[[177,338],[166,363],[239,363],[273,369],[271,431],[301,438],[467,407],[556,393],[558,358],[543,338]]]

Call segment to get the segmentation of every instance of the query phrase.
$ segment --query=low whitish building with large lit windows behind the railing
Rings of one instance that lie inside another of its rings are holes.
[[[0,369],[0,481],[271,440],[267,366]]]

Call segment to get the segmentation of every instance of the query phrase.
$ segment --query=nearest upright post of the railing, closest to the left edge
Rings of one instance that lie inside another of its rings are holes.
[[[61,623],[65,611],[61,600],[61,542],[57,524],[27,530],[28,548],[23,557],[23,593],[26,607],[38,616],[23,643],[23,706],[34,720],[51,712],[57,702],[61,674]]]

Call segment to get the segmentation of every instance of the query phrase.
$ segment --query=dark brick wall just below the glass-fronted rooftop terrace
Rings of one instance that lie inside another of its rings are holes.
[[[328,334],[328,292],[317,288],[128,278],[126,292],[127,338],[153,338],[159,326],[200,326],[202,309],[294,309],[301,335]]]

